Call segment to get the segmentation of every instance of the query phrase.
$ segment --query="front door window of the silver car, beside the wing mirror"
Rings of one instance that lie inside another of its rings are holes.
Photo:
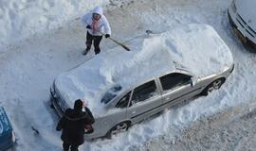
[[[160,77],[160,82],[162,84],[163,91],[174,90],[177,87],[190,84],[192,82],[192,76],[173,73],[166,76]]]

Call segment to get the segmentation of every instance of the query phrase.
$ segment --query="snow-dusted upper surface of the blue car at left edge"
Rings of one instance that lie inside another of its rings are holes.
[[[0,107],[0,137],[11,131],[9,119],[4,108]]]

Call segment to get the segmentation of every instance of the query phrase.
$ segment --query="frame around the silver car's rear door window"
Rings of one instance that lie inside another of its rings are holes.
[[[133,104],[133,103],[132,103],[132,98],[133,98],[135,89],[137,89],[137,87],[140,87],[140,86],[142,86],[143,84],[146,84],[146,83],[151,82],[151,81],[154,81],[154,82],[155,82],[156,95],[153,96],[153,97],[147,98],[147,99],[145,99],[145,100],[143,100],[143,101],[139,101],[139,102]],[[161,93],[160,93],[160,91],[159,91],[160,88],[159,88],[159,85],[158,85],[158,82],[157,82],[157,79],[156,79],[156,78],[152,78],[152,79],[150,79],[150,80],[148,80],[148,81],[146,81],[146,82],[143,82],[142,84],[137,85],[137,87],[135,87],[135,88],[132,89],[132,93],[131,93],[131,96],[130,96],[130,101],[129,101],[129,104],[128,104],[128,108],[133,107],[133,106],[138,105],[138,104],[143,104],[143,103],[147,102],[146,100],[150,100],[150,99],[152,99],[152,98],[159,97],[159,96],[161,95]]]

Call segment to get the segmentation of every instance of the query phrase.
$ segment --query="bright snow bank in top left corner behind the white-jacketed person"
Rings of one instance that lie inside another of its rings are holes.
[[[17,42],[37,32],[63,26],[108,0],[4,0],[0,1],[0,45]]]

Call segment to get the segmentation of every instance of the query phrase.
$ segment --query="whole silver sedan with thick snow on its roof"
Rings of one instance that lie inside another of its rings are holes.
[[[117,47],[58,76],[51,87],[57,112],[78,98],[95,116],[85,139],[112,136],[163,109],[219,89],[234,69],[229,47],[210,25],[181,25]]]

